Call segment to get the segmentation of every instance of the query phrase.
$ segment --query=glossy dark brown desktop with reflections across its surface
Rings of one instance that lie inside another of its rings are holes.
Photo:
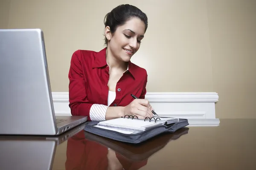
[[[0,170],[255,170],[256,119],[221,119],[185,127],[142,144],[84,132],[0,136]]]

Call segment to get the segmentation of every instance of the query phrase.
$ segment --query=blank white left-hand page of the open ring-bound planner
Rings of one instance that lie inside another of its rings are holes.
[[[145,130],[149,127],[162,125],[162,123],[148,122],[137,119],[117,118],[99,122],[99,125],[107,125],[109,127],[122,127],[134,130]]]

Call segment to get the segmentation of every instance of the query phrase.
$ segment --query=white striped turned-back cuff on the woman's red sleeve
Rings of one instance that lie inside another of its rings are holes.
[[[90,119],[92,121],[106,120],[107,108],[106,105],[93,104],[90,108]]]

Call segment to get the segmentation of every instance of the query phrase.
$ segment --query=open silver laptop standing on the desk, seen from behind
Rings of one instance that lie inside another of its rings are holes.
[[[0,134],[59,135],[86,121],[55,116],[43,31],[0,29]]]

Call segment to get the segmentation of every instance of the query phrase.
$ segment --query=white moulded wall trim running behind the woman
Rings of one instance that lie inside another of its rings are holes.
[[[145,96],[159,116],[173,116],[189,119],[189,124],[215,126],[215,102],[218,94],[214,92],[152,93]],[[56,116],[71,115],[68,92],[52,92]]]

